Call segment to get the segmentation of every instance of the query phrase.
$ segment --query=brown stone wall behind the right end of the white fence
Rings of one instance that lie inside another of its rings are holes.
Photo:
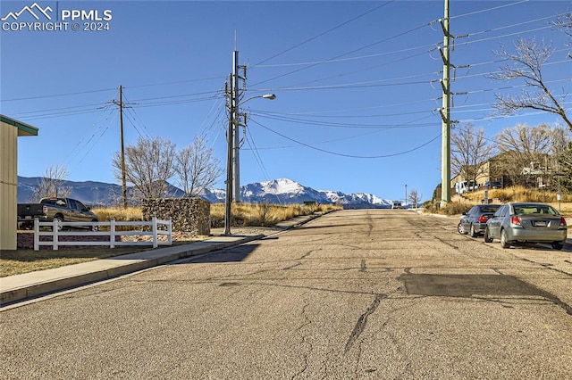
[[[196,235],[211,233],[211,203],[200,198],[146,199],[141,203],[143,219],[171,218],[172,230]]]

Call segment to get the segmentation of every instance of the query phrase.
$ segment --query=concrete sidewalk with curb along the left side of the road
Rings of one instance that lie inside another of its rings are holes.
[[[180,260],[208,252],[220,251],[234,245],[245,244],[267,235],[297,227],[318,216],[304,216],[290,219],[272,228],[252,228],[256,233],[240,233],[245,229],[236,227],[236,235],[222,235],[223,228],[213,228],[212,238],[202,242],[172,245],[166,248],[125,254],[108,259],[82,262],[61,268],[0,278],[0,307],[13,302],[39,297],[49,293],[88,285],[97,281],[119,277],[138,270],[156,267],[173,260]],[[260,233],[258,233],[260,231]]]

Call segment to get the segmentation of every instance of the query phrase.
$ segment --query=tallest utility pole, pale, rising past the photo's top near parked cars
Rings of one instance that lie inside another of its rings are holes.
[[[449,0],[445,0],[445,14],[441,21],[443,29],[443,48],[441,52],[443,60],[443,78],[441,86],[442,96],[442,162],[441,162],[441,205],[450,202],[450,59],[449,59]]]

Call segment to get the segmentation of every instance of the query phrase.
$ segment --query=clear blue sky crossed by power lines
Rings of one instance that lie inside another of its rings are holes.
[[[34,3],[51,20],[38,11],[39,20],[10,16]],[[554,48],[544,79],[557,95],[572,93],[569,40],[551,27],[567,11],[571,1],[450,0],[455,128],[471,123],[492,140],[517,124],[559,123],[543,112],[496,114],[495,95],[525,87],[491,74],[504,64],[495,51],[535,38]],[[443,16],[444,0],[3,0],[0,112],[39,128],[19,137],[18,175],[61,165],[72,181],[121,184],[112,166],[120,86],[125,145],[162,138],[182,149],[203,138],[226,169],[224,83],[236,50],[247,68],[241,185],[290,178],[316,190],[395,200],[416,190],[430,200],[442,178]],[[30,30],[32,21],[47,30]],[[249,99],[264,94],[276,99]]]

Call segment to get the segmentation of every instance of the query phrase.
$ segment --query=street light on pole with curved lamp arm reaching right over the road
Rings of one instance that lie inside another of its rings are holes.
[[[238,113],[241,104],[247,103],[249,100],[256,98],[263,99],[276,99],[274,94],[265,94],[251,96],[248,99],[238,102],[234,91],[230,91],[231,99],[229,101],[229,130],[228,130],[228,145],[227,145],[227,160],[226,160],[226,197],[224,201],[224,232],[223,235],[231,235],[231,204],[232,204],[232,180],[235,178],[235,174],[239,172],[239,141],[238,133],[236,132],[236,127],[239,126]],[[236,170],[234,170],[236,166]],[[238,178],[236,178],[236,186],[239,187]],[[240,189],[239,189],[240,192]]]

